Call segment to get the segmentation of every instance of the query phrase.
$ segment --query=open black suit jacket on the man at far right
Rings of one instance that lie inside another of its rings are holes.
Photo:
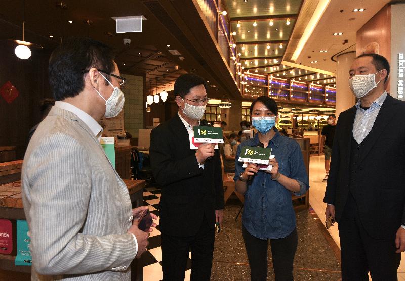
[[[356,107],[342,112],[336,125],[324,202],[342,218],[349,196],[351,137]],[[365,140],[352,190],[362,225],[371,237],[393,239],[405,225],[405,102],[387,96]]]

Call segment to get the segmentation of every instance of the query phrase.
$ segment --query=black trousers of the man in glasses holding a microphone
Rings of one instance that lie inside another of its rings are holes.
[[[209,281],[214,253],[215,228],[204,217],[197,234],[188,237],[161,234],[164,281],[183,281],[191,249],[191,281]]]

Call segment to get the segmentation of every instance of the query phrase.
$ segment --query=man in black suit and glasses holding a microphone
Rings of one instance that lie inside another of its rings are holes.
[[[184,74],[174,84],[178,114],[151,132],[150,160],[160,198],[164,280],[184,280],[191,249],[191,280],[209,280],[215,223],[222,225],[224,192],[214,144],[191,149],[193,126],[199,125],[209,99],[207,84]]]

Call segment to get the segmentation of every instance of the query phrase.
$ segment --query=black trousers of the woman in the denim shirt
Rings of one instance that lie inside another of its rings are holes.
[[[280,239],[260,239],[242,226],[246,252],[248,253],[252,281],[267,278],[267,245],[270,240],[273,256],[274,276],[276,281],[291,281],[293,277],[294,256],[298,245],[297,229]]]

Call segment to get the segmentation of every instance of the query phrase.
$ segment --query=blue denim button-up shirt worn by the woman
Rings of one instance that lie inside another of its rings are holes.
[[[300,145],[291,138],[281,136],[278,130],[275,131],[267,147],[272,149],[271,154],[278,162],[279,172],[300,184],[300,191],[294,194],[303,195],[309,189],[309,182]],[[235,181],[239,180],[240,173],[245,169],[242,168],[243,162],[238,161],[242,147],[256,146],[259,143],[258,136],[257,133],[238,145]],[[291,191],[270,177],[265,171],[259,171],[245,193],[242,223],[251,235],[260,239],[284,238],[296,227]]]

